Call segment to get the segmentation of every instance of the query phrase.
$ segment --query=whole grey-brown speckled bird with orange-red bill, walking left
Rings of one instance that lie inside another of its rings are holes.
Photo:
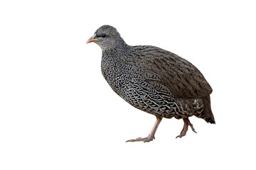
[[[215,124],[210,107],[212,88],[191,62],[152,45],[127,45],[116,28],[104,25],[87,40],[102,49],[101,71],[112,90],[124,101],[156,116],[147,137],[126,142],[150,142],[162,118],[183,120],[183,137],[191,116]],[[176,138],[177,138],[176,137]]]

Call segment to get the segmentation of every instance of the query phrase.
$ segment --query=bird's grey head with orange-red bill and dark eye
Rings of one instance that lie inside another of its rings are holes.
[[[87,40],[86,43],[95,42],[99,45],[102,50],[117,47],[117,45],[125,44],[124,40],[121,38],[117,29],[112,26],[101,26],[98,28],[94,35]]]

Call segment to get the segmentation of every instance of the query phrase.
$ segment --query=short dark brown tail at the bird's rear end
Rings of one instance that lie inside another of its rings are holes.
[[[215,124],[213,112],[211,111],[211,108],[210,108],[210,96],[207,96],[202,99],[203,99],[203,105],[204,105],[203,113],[202,113],[203,119],[206,120],[207,123]]]

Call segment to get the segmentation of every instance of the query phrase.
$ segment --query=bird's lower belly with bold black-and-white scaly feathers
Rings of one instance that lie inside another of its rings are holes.
[[[172,96],[162,96],[154,86],[139,79],[120,82],[119,92],[125,101],[138,108],[156,115],[156,117],[173,117],[178,114],[178,106]]]

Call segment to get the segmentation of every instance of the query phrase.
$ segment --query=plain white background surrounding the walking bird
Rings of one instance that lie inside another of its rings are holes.
[[[255,169],[253,1],[1,1],[0,169]],[[85,44],[109,24],[129,45],[186,58],[213,88],[216,125],[119,98]]]

